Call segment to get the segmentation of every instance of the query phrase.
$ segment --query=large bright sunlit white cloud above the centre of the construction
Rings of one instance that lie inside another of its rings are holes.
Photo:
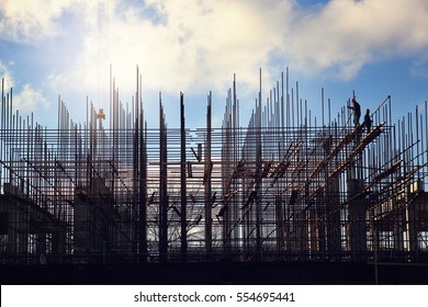
[[[225,92],[234,72],[240,84],[257,88],[259,68],[264,71],[269,55],[283,44],[280,34],[292,7],[286,1],[251,3],[150,0],[145,8],[117,11],[119,2],[110,2],[95,8],[102,20],[82,38],[76,66],[50,80],[56,87],[100,91],[112,64],[125,91],[135,88],[136,65],[146,90]],[[147,8],[157,15],[143,19]]]

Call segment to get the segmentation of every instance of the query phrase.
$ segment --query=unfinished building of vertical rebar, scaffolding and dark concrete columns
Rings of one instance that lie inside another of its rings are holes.
[[[368,128],[299,95],[286,70],[241,125],[234,78],[221,127],[209,93],[189,128],[180,93],[180,127],[159,94],[148,128],[137,69],[131,104],[111,77],[109,112],[58,100],[48,128],[2,86],[1,264],[427,263],[427,102],[392,123],[386,96]]]

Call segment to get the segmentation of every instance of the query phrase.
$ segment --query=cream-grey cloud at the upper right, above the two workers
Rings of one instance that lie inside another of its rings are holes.
[[[337,0],[295,16],[285,54],[307,75],[333,69],[349,80],[374,60],[428,47],[425,0]]]

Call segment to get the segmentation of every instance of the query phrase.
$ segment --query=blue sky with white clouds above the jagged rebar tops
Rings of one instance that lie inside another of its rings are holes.
[[[352,90],[373,110],[391,94],[395,117],[428,99],[426,0],[87,2],[0,4],[0,77],[21,112],[42,125],[56,127],[58,95],[75,122],[86,120],[87,96],[108,110],[110,65],[123,103],[132,101],[138,65],[155,127],[159,91],[169,127],[179,126],[180,91],[188,125],[204,126],[212,91],[218,126],[234,73],[246,124],[259,68],[266,98],[289,67],[291,86],[299,81],[314,114],[320,88],[334,114]]]

